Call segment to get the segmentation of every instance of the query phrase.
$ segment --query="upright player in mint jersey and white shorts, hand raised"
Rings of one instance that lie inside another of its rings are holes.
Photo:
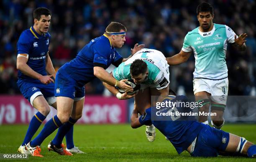
[[[212,23],[213,8],[209,3],[197,6],[197,20],[200,26],[187,33],[182,50],[166,58],[169,65],[177,65],[188,60],[191,53],[195,56],[193,91],[197,101],[203,101],[199,111],[216,112],[211,116],[212,125],[220,129],[224,125],[223,113],[228,96],[228,68],[225,61],[227,43],[238,51],[246,50],[246,33],[239,37],[227,25]],[[207,116],[199,116],[199,122],[208,124]]]

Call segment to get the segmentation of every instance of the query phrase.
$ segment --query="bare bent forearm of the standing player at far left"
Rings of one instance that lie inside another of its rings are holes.
[[[17,57],[17,69],[20,70],[23,74],[30,76],[31,78],[35,78],[41,81],[43,84],[49,84],[51,82],[54,82],[52,80],[51,76],[42,76],[40,73],[37,73],[36,71],[33,71],[31,67],[28,66],[28,54],[19,54]]]

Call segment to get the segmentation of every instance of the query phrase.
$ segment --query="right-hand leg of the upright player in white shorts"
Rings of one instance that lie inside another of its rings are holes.
[[[216,116],[211,116],[212,126],[220,129],[224,123],[224,110],[228,97],[228,78],[218,81],[212,81],[211,85],[211,112],[216,113]]]

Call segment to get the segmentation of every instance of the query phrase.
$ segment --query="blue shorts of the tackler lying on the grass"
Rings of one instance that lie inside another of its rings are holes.
[[[197,136],[192,157],[217,157],[219,151],[225,151],[229,142],[229,133],[205,125]]]

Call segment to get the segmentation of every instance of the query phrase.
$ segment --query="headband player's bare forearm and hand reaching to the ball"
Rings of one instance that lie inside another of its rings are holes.
[[[125,82],[123,80],[121,80],[121,81],[116,80],[113,76],[110,75],[110,73],[105,71],[105,69],[100,66],[93,67],[93,74],[97,78],[99,78],[101,81],[103,81],[109,85],[118,86],[120,89],[123,89],[127,92],[133,91],[133,88],[131,86],[128,86],[127,84],[125,84]]]

